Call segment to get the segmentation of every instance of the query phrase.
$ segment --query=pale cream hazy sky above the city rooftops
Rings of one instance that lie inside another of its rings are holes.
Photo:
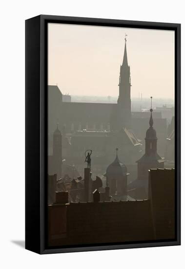
[[[174,98],[174,31],[48,24],[48,84],[71,95],[118,96],[124,35],[131,97]]]

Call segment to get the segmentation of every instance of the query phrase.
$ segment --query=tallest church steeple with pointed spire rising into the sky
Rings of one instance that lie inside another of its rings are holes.
[[[120,67],[120,78],[119,78],[119,97],[118,97],[118,130],[123,127],[131,128],[131,99],[130,99],[130,67],[128,66],[127,51],[126,51],[126,39],[124,38],[124,55],[123,63]]]

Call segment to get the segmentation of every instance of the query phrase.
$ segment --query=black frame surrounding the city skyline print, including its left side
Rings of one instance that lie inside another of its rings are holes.
[[[175,240],[47,247],[47,23],[175,31]],[[181,24],[40,15],[25,22],[25,248],[40,254],[181,244]]]

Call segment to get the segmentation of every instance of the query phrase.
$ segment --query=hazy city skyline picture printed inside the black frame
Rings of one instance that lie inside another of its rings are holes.
[[[175,237],[174,32],[50,23],[48,244]]]

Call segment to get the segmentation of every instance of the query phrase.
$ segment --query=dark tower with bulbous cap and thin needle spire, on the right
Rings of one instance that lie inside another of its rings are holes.
[[[153,117],[152,117],[152,96],[151,107],[150,107],[150,119],[149,128],[146,131],[145,136],[145,153],[137,161],[138,163],[138,179],[148,180],[148,170],[152,168],[164,168],[164,159],[160,157],[157,153],[157,134],[156,130],[153,128]]]

